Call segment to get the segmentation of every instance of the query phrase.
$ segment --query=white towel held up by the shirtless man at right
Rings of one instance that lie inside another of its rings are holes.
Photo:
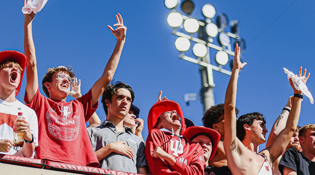
[[[303,94],[310,99],[311,104],[314,104],[311,92],[307,89],[305,83],[303,83],[302,81],[302,79],[305,79],[305,77],[295,77],[294,73],[290,72],[288,69],[283,68],[283,70],[286,74],[288,74],[288,79],[292,79],[292,83],[295,89],[303,92]]]

